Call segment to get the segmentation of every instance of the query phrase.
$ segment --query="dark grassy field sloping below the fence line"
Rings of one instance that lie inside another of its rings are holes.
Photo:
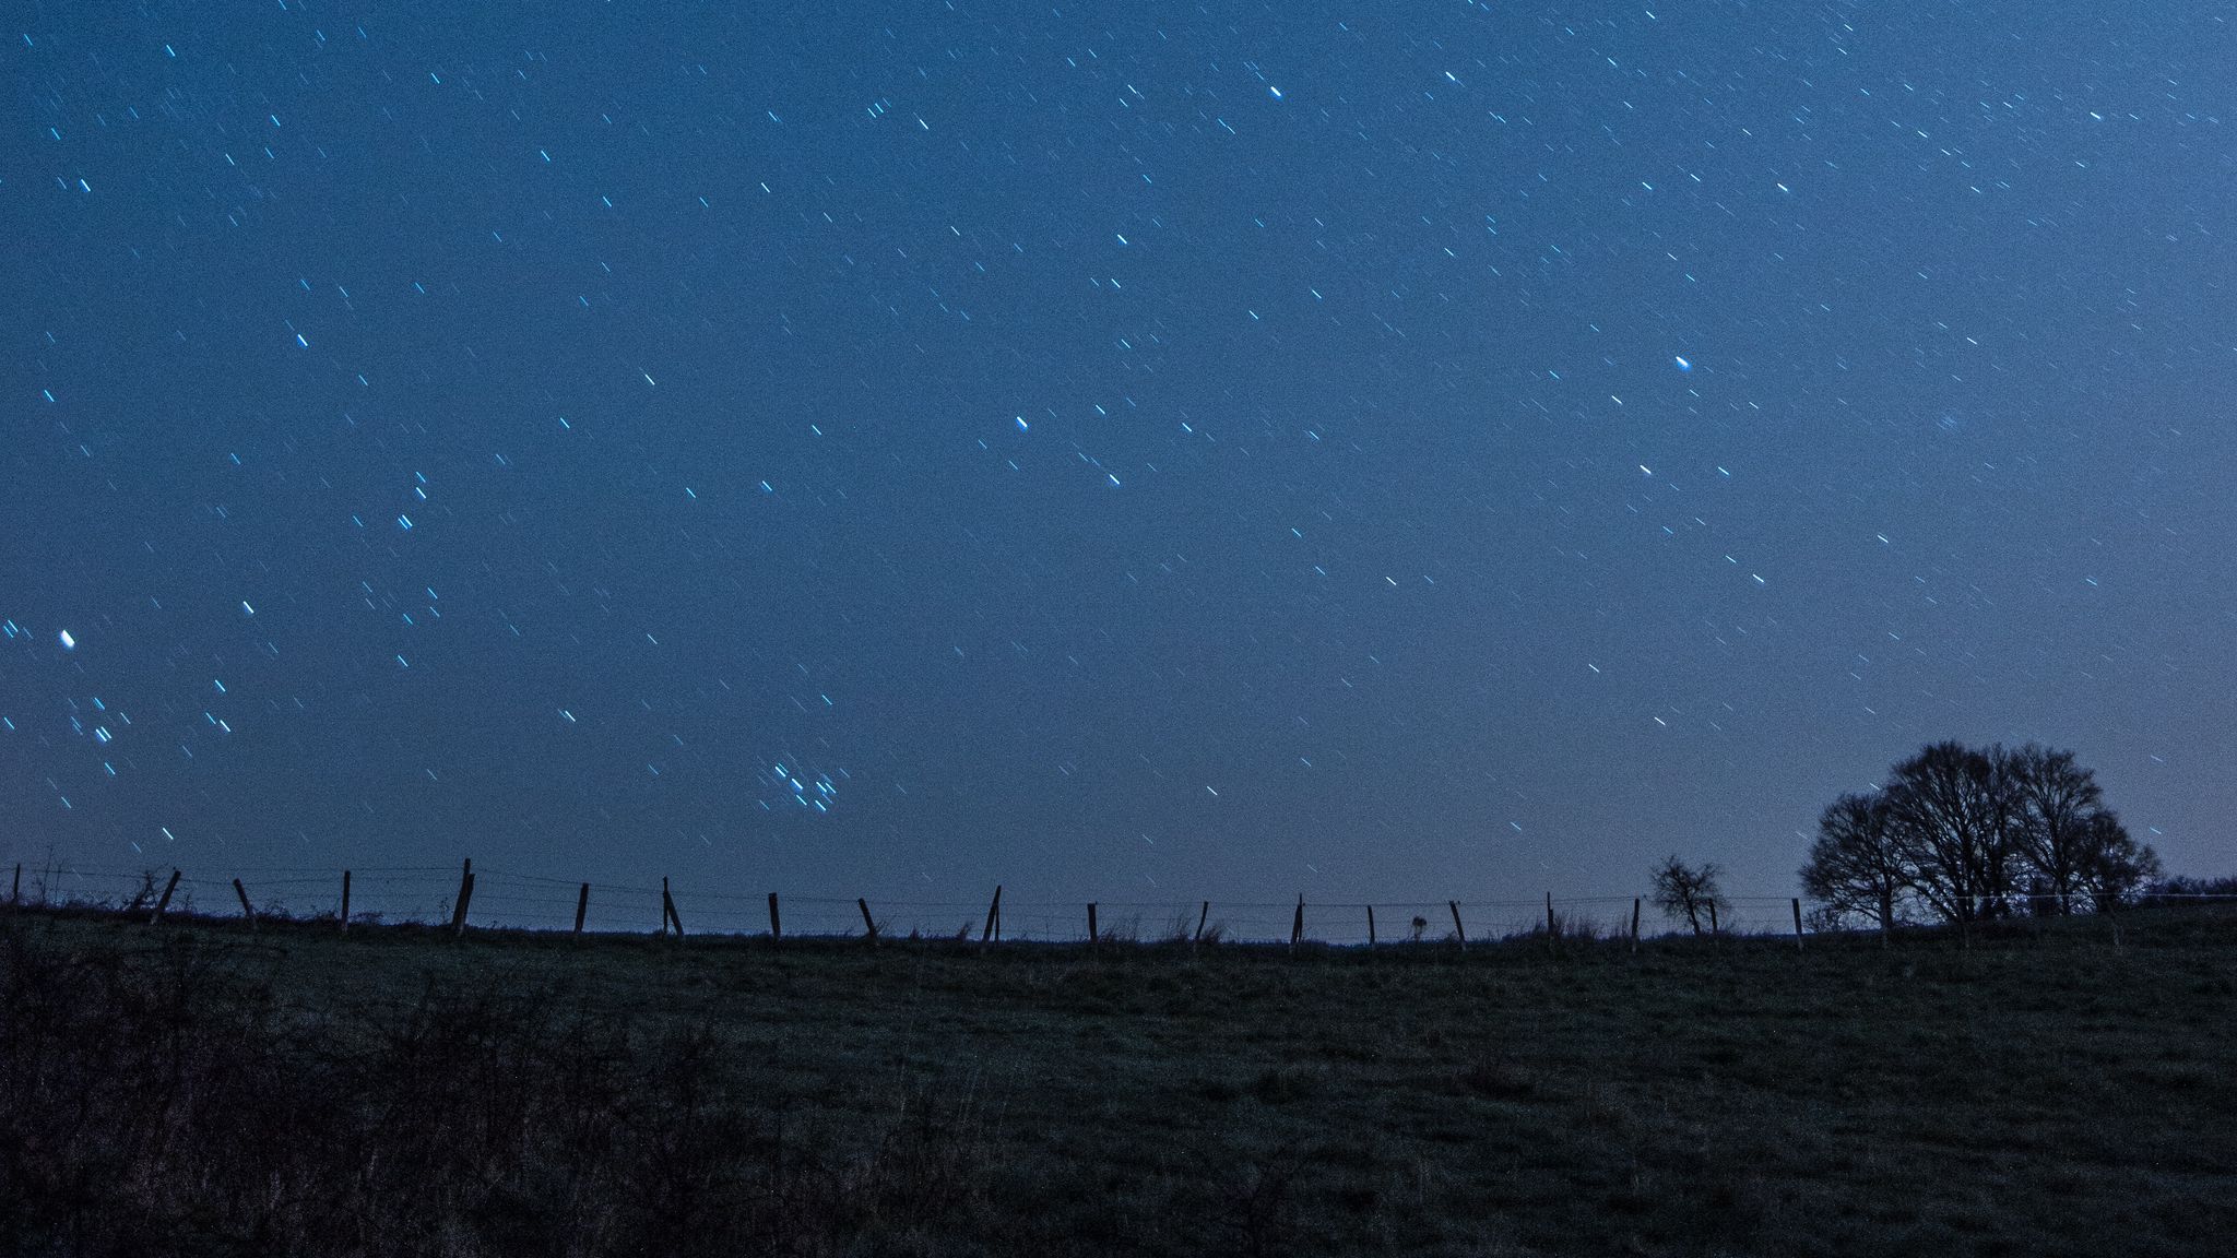
[[[1356,949],[4,924],[18,1254],[2230,1254],[2237,913]]]

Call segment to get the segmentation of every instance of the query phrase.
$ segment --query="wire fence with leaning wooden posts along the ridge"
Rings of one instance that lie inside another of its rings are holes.
[[[4,871],[0,871],[4,873]],[[347,886],[347,891],[344,891]],[[9,904],[76,904],[197,918],[418,922],[655,933],[673,920],[687,933],[861,938],[1000,938],[1027,942],[1476,942],[1555,933],[1790,936],[1821,924],[1816,904],[1792,895],[1722,895],[1693,920],[1662,913],[1651,895],[1550,893],[1528,900],[859,900],[839,895],[738,893],[662,882],[575,882],[537,873],[456,866],[304,869],[161,875],[49,862],[13,869]],[[461,898],[468,913],[459,916]],[[2033,909],[2042,900],[2009,895]],[[2148,902],[2237,902],[2237,895],[2148,893]],[[2049,904],[2045,904],[2049,907]],[[671,918],[673,913],[673,918]],[[1094,929],[1094,936],[1089,936]]]

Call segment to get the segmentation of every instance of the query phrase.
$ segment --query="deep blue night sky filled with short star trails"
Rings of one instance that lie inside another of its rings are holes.
[[[2233,864],[2226,4],[7,22],[11,860],[1787,895],[2038,739]]]

